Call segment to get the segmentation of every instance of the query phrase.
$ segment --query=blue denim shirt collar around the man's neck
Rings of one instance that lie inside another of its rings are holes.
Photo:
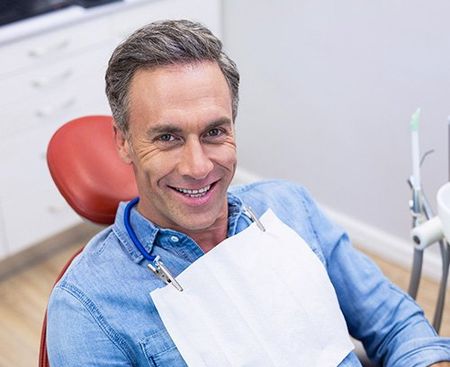
[[[238,220],[242,216],[243,204],[241,199],[237,196],[228,193],[228,237],[236,234],[238,228]],[[144,256],[139,252],[136,246],[133,244],[130,236],[127,233],[124,224],[124,211],[126,202],[121,202],[117,209],[116,218],[113,225],[113,231],[122,243],[125,251],[130,255],[131,259],[138,263],[144,259]],[[135,231],[138,240],[141,242],[145,250],[151,254],[155,245],[157,236],[161,231],[161,228],[153,224],[150,220],[142,216],[134,207],[130,213],[130,224]],[[184,235],[186,236],[186,235]]]

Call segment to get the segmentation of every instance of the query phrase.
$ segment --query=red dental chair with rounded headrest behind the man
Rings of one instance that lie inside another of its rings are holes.
[[[91,222],[112,224],[119,202],[138,195],[131,166],[117,154],[111,116],[86,116],[64,124],[48,144],[47,163],[62,196]],[[42,325],[39,367],[50,366],[46,330],[47,313]]]

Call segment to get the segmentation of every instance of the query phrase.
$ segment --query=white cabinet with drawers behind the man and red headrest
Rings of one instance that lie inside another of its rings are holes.
[[[101,9],[0,44],[0,259],[80,221],[50,178],[46,147],[64,122],[110,113],[104,74],[118,42],[169,18],[200,21],[220,36],[220,0],[128,0]]]

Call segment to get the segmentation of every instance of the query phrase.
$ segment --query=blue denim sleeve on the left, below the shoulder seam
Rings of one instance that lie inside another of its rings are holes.
[[[120,338],[95,306],[59,286],[47,311],[47,352],[52,367],[132,365]]]

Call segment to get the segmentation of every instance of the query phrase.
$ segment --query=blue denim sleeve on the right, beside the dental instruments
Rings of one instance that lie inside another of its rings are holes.
[[[450,338],[439,337],[422,309],[390,282],[306,193],[311,226],[350,334],[383,366],[429,366],[450,361]]]

